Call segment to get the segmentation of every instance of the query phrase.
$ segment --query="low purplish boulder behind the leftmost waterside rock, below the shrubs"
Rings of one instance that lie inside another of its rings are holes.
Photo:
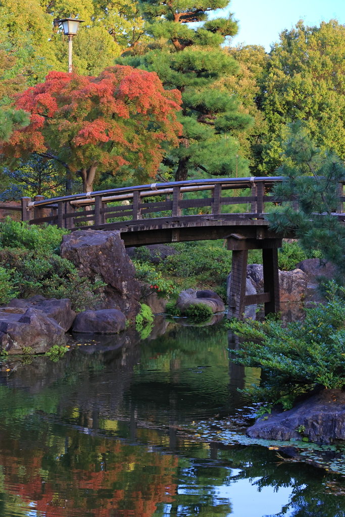
[[[53,318],[65,331],[72,326],[76,313],[71,309],[71,301],[69,298],[44,298],[41,295],[32,296],[31,298],[12,298],[7,307],[13,308],[34,308],[42,312],[49,318]]]

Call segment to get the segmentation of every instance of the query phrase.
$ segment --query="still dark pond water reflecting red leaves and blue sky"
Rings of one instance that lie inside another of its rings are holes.
[[[70,344],[2,364],[1,517],[345,515],[345,477],[184,431],[250,405],[237,388],[258,372],[229,363],[221,324]]]

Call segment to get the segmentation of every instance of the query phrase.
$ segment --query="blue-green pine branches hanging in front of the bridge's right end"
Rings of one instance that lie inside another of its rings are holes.
[[[322,152],[309,139],[303,123],[289,124],[284,142],[284,163],[277,175],[285,176],[274,193],[298,202],[283,202],[267,216],[271,229],[295,232],[306,251],[318,251],[326,261],[343,268],[345,227],[334,212],[339,207],[339,181],[345,178],[343,162],[331,151]]]

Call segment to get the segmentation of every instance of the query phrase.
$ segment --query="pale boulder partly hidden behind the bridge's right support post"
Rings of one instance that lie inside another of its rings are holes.
[[[248,279],[259,293],[263,293],[264,277],[261,264],[249,264],[247,266],[247,281]],[[304,271],[301,269],[294,269],[293,271],[279,270],[280,301],[300,301],[305,295],[306,289],[307,275]]]

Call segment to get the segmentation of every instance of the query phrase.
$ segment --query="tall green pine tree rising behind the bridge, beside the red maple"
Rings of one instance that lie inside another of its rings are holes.
[[[117,59],[117,63],[157,72],[165,88],[182,93],[183,134],[178,148],[167,148],[163,160],[177,181],[197,171],[217,176],[249,172],[248,160],[232,131],[245,131],[253,118],[233,92],[219,87],[221,78],[238,70],[235,59],[220,48],[228,36],[237,33],[237,23],[232,14],[227,19],[207,19],[209,11],[228,4],[229,0],[142,0],[146,32],[154,43],[143,55]],[[192,23],[197,27],[192,28]]]

